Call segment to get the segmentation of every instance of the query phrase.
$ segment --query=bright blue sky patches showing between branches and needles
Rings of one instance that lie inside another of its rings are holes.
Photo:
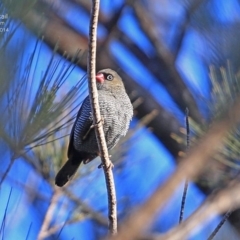
[[[226,3],[227,2],[227,3]],[[108,14],[111,13],[112,7],[119,6],[122,1],[115,1],[116,5],[112,6],[112,1],[102,1],[102,10]],[[211,6],[215,7],[217,11],[214,11],[216,21],[228,23],[239,19],[239,4],[237,1],[211,1]],[[111,7],[110,7],[111,5]],[[221,6],[221,7],[220,7]],[[178,16],[179,17],[179,16]],[[66,16],[67,20],[76,27],[80,32],[87,34],[88,32],[88,16],[84,14],[80,9],[74,9],[68,12]],[[77,21],[81,18],[79,24]],[[131,38],[136,44],[144,49],[144,51],[151,55],[153,54],[153,47],[147,40],[146,36],[139,29],[136,20],[132,16],[131,10],[127,9],[119,21],[119,27]],[[17,39],[22,38],[24,29],[20,29],[14,36],[12,44],[15,44]],[[104,27],[99,30],[100,37],[104,36]],[[33,50],[35,44],[35,37],[27,34],[28,47],[24,52],[23,62],[26,61],[29,54]],[[189,30],[184,40],[183,49],[177,59],[177,68],[180,74],[183,76],[187,86],[194,92],[194,96],[209,97],[209,82],[208,72],[206,66],[201,62],[201,58],[195,51],[198,44],[202,42],[201,37],[197,32]],[[184,126],[184,114],[178,109],[176,103],[173,101],[169,93],[166,91],[163,85],[161,85],[152,74],[146,69],[138,59],[136,59],[127,49],[121,45],[117,40],[112,42],[110,49],[114,57],[118,60],[121,67],[137,81],[143,87],[145,87],[154,98],[170,112],[174,113],[179,122]],[[48,61],[50,59],[51,50],[44,44],[41,46],[41,53],[38,59],[37,71],[35,73],[35,79],[39,79],[39,76],[44,72]],[[56,56],[59,58],[59,56]],[[70,88],[82,77],[84,72],[76,68],[69,76],[69,80],[64,85],[65,88]],[[34,81],[35,81],[34,79]],[[34,83],[37,88],[38,83]],[[84,93],[85,94],[85,93]],[[201,110],[204,111],[204,107],[199,104]],[[132,127],[137,124],[137,119],[134,119]],[[159,126],[161,127],[161,125]],[[115,176],[117,196],[119,199],[119,213],[121,216],[126,215],[126,201],[125,196],[128,196],[128,205],[130,209],[133,209],[137,204],[145,201],[148,196],[156,189],[156,187],[163,183],[169,175],[175,169],[175,161],[172,155],[166,150],[166,148],[159,142],[159,140],[146,128],[138,130],[132,139],[130,140],[131,148],[126,156],[125,168],[118,172]],[[96,163],[98,165],[98,163]],[[3,162],[4,166],[4,162]],[[84,166],[83,166],[84,167]],[[38,189],[40,193],[50,196],[51,189],[48,184],[41,182],[38,176],[34,176],[31,168],[26,166],[23,161],[18,160],[14,163],[9,177],[20,181],[22,183],[33,181],[35,184],[33,187]],[[100,170],[96,169],[92,173],[92,178],[97,179],[92,181],[89,188],[84,191],[80,190],[79,194],[81,198],[85,199],[89,205],[94,209],[103,209],[103,214],[107,216],[106,207],[106,190],[104,186],[104,176]],[[81,181],[80,181],[81,183]],[[152,229],[154,231],[166,231],[177,224],[178,215],[180,209],[182,189],[181,186],[164,210],[158,216]],[[25,192],[22,189],[17,188],[10,181],[5,181],[0,188],[0,219],[3,219],[4,211],[6,209],[7,199],[9,192],[12,189],[11,198],[7,208],[7,221],[5,225],[5,239],[25,239],[29,226],[31,225],[29,239],[35,239],[41,226],[41,216],[47,208],[47,204],[42,204],[41,201],[37,202],[38,208],[29,207],[28,199],[25,196]],[[96,194],[98,193],[98,194]],[[204,194],[198,190],[194,184],[190,184],[186,215],[191,214],[197,206],[204,200]],[[69,212],[63,214],[62,218],[67,218]],[[14,222],[14,224],[13,224]],[[216,222],[215,222],[216,223]],[[209,235],[210,228],[213,228],[214,224],[210,224],[199,234],[192,237],[192,240],[206,239]],[[93,224],[90,220],[83,220],[80,224],[73,224],[64,228],[60,236],[62,239],[95,239]],[[99,230],[101,232],[101,229]],[[81,236],[80,238],[78,236]],[[50,239],[50,238],[49,238]]]

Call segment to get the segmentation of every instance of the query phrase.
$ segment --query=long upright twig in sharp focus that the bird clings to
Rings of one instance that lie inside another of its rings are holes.
[[[88,53],[88,81],[89,96],[93,112],[93,121],[96,125],[95,133],[98,142],[98,148],[102,159],[107,192],[108,192],[108,217],[109,231],[112,235],[117,233],[117,207],[116,192],[112,173],[112,163],[109,159],[107,144],[103,132],[102,119],[99,110],[98,92],[96,87],[96,46],[97,46],[97,23],[99,12],[99,0],[93,0],[90,27],[89,27],[89,53]]]

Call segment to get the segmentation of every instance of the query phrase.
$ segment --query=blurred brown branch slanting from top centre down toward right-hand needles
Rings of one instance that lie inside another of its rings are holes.
[[[191,117],[196,122],[201,123],[202,116],[193,95],[186,87],[186,84],[175,66],[174,55],[164,46],[161,39],[156,34],[156,29],[149,17],[149,13],[146,12],[139,1],[134,1],[132,3],[132,8],[139,21],[140,28],[156,50],[156,55],[152,57],[153,63],[148,66],[149,69],[151,69],[153,75],[164,84],[179,108],[184,112],[186,107],[188,107],[191,112]]]

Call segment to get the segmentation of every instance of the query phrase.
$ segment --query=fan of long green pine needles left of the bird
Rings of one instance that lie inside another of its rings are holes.
[[[2,101],[6,102],[4,116],[0,119],[2,136],[9,135],[12,146],[23,149],[33,143],[42,142],[48,136],[61,130],[72,119],[69,107],[75,106],[83,87],[84,79],[69,91],[62,94],[61,86],[67,81],[73,70],[72,63],[64,64],[58,71],[61,59],[54,61],[54,53],[47,70],[41,79],[37,79],[33,71],[38,67],[35,59],[37,45],[30,56],[23,73],[18,71],[11,78],[11,84],[5,89]],[[17,62],[15,62],[17,64]],[[14,66],[17,69],[17,66]],[[4,80],[3,80],[4,81]],[[38,85],[39,83],[39,85]],[[37,86],[38,85],[38,86]],[[37,86],[37,90],[35,88]],[[61,94],[61,99],[58,99]],[[67,111],[67,113],[66,113]],[[71,116],[71,118],[69,117]],[[62,117],[59,119],[59,117]]]

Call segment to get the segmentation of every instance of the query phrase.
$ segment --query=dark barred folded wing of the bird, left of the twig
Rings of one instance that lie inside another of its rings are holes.
[[[78,136],[77,144],[82,144],[82,142],[84,141],[84,137],[86,137],[86,133],[89,133],[89,131],[91,131],[92,124],[93,120],[90,99],[89,97],[86,97],[78,111],[76,120],[72,127],[68,146],[68,158],[70,158],[70,156],[72,156],[72,154],[76,152],[74,148],[74,141],[76,140],[76,137],[74,139],[74,134],[77,134]]]

